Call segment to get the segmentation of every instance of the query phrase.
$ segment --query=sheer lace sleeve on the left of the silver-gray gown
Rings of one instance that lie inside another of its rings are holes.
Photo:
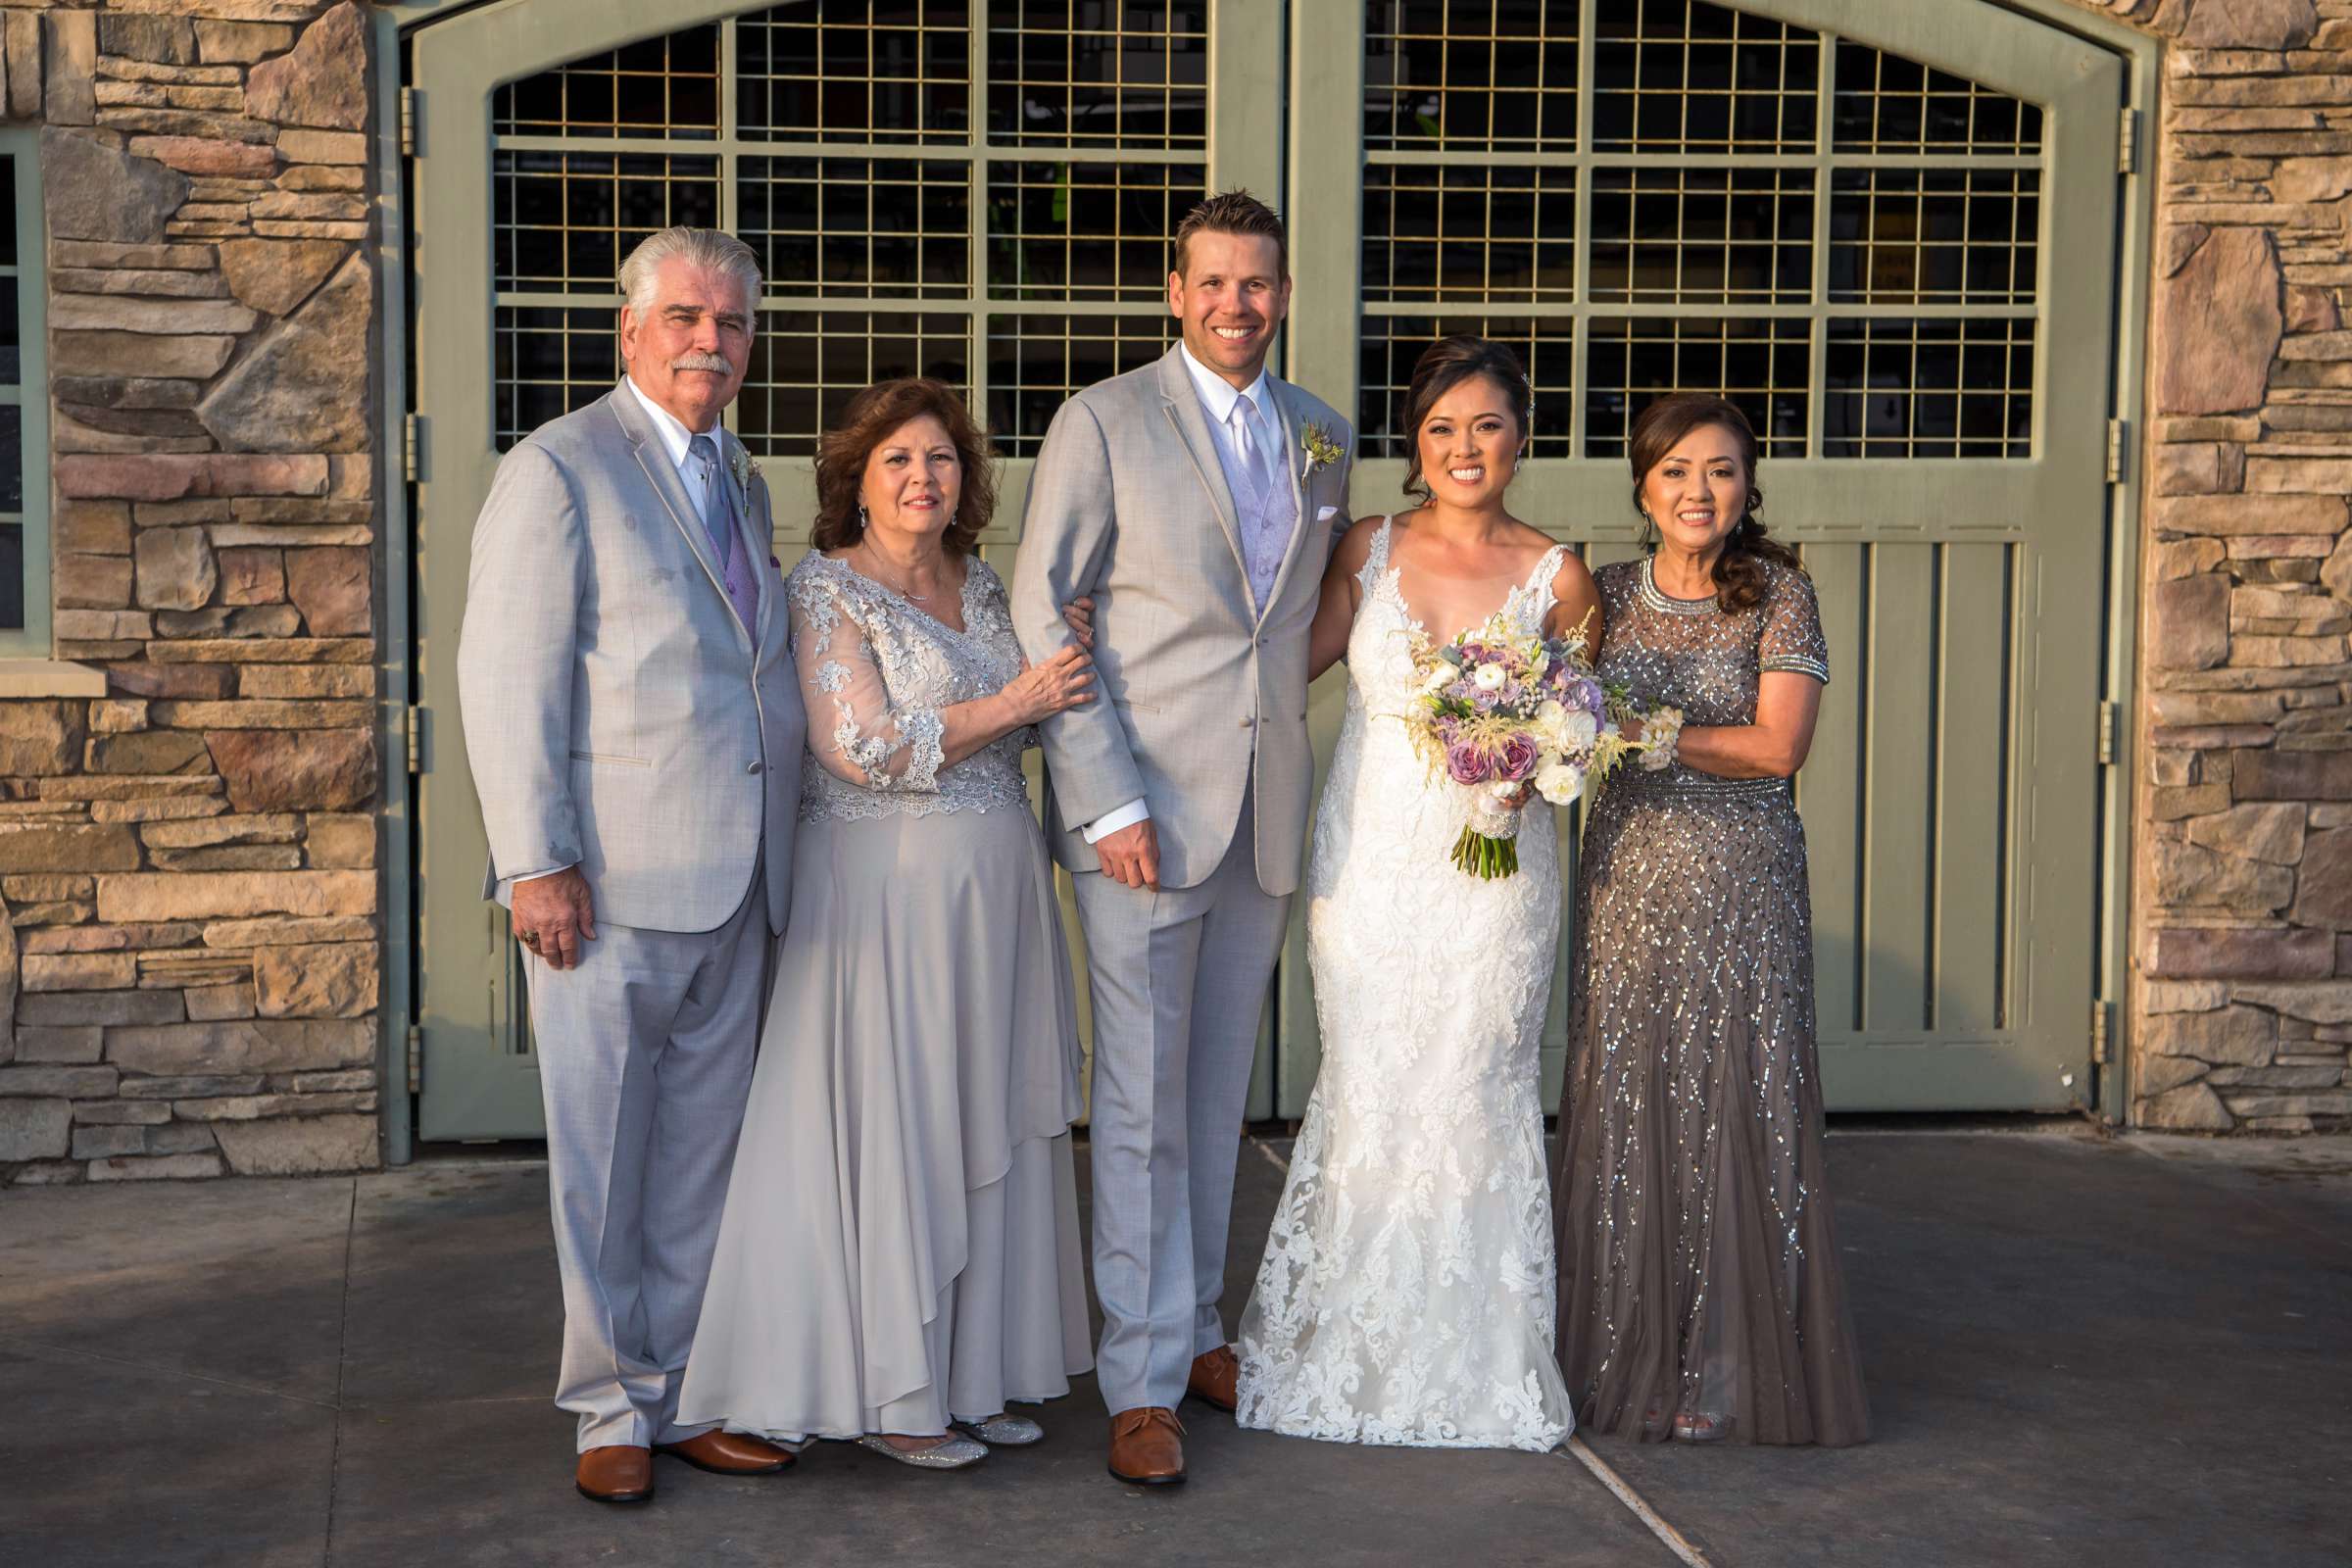
[[[809,752],[866,790],[938,790],[936,708],[898,708],[875,646],[835,583],[793,585],[793,661],[809,708]]]

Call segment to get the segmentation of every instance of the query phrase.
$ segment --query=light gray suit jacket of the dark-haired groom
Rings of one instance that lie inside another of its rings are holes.
[[[1315,395],[1268,376],[1298,524],[1263,614],[1209,416],[1183,367],[1098,381],[1054,416],[1030,475],[1014,571],[1014,625],[1030,658],[1094,597],[1101,701],[1042,726],[1047,830],[1070,870],[1098,860],[1080,827],[1143,799],[1160,884],[1207,882],[1256,785],[1258,886],[1298,886],[1315,755],[1308,748],[1308,625],[1331,541],[1348,529],[1355,430]],[[1305,425],[1341,449],[1308,473]]]

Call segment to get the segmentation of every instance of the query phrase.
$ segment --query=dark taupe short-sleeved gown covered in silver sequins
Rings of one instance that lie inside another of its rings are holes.
[[[1670,599],[1602,567],[1602,675],[1684,722],[1752,724],[1764,670],[1828,682],[1813,585]],[[1870,1436],[1820,1164],[1813,917],[1783,778],[1609,780],[1583,837],[1559,1105],[1559,1363],[1578,1425],[1755,1443]]]

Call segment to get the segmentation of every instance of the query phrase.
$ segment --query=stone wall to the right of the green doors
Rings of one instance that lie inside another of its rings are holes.
[[[2131,1119],[2345,1126],[2352,0],[2105,9],[2171,40],[2154,136]]]

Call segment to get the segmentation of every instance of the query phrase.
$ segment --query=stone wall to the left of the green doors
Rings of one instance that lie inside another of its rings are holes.
[[[367,33],[0,9],[0,106],[45,127],[56,656],[106,677],[0,701],[0,1180],[379,1161]]]

